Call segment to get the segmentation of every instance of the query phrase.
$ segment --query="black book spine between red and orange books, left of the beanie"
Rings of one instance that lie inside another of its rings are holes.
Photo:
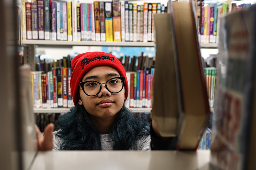
[[[56,68],[58,107],[63,107],[62,98],[62,69]]]

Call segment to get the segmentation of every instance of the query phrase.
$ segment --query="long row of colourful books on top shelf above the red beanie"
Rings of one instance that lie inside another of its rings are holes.
[[[161,3],[137,5],[119,0],[91,4],[22,0],[22,39],[153,42],[153,14],[166,10]]]

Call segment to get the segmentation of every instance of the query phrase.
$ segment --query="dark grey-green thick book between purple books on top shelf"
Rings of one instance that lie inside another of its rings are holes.
[[[50,40],[50,2],[44,0],[44,40]]]

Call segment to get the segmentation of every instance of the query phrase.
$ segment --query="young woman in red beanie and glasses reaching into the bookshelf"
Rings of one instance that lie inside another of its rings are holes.
[[[159,136],[155,121],[130,112],[124,102],[128,82],[112,54],[87,52],[71,61],[70,87],[75,107],[45,128],[36,127],[39,150],[175,149],[176,138]],[[151,93],[152,95],[152,93]],[[151,126],[150,126],[151,124]]]

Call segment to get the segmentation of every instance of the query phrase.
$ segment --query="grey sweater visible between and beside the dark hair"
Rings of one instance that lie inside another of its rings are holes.
[[[52,151],[60,151],[60,145],[64,141],[60,137],[55,136],[57,131],[53,132],[53,148]],[[148,151],[150,148],[150,135],[143,136],[140,139],[133,142],[129,150],[133,151]],[[102,151],[111,151],[113,150],[114,141],[111,138],[110,134],[100,135],[100,143]]]

